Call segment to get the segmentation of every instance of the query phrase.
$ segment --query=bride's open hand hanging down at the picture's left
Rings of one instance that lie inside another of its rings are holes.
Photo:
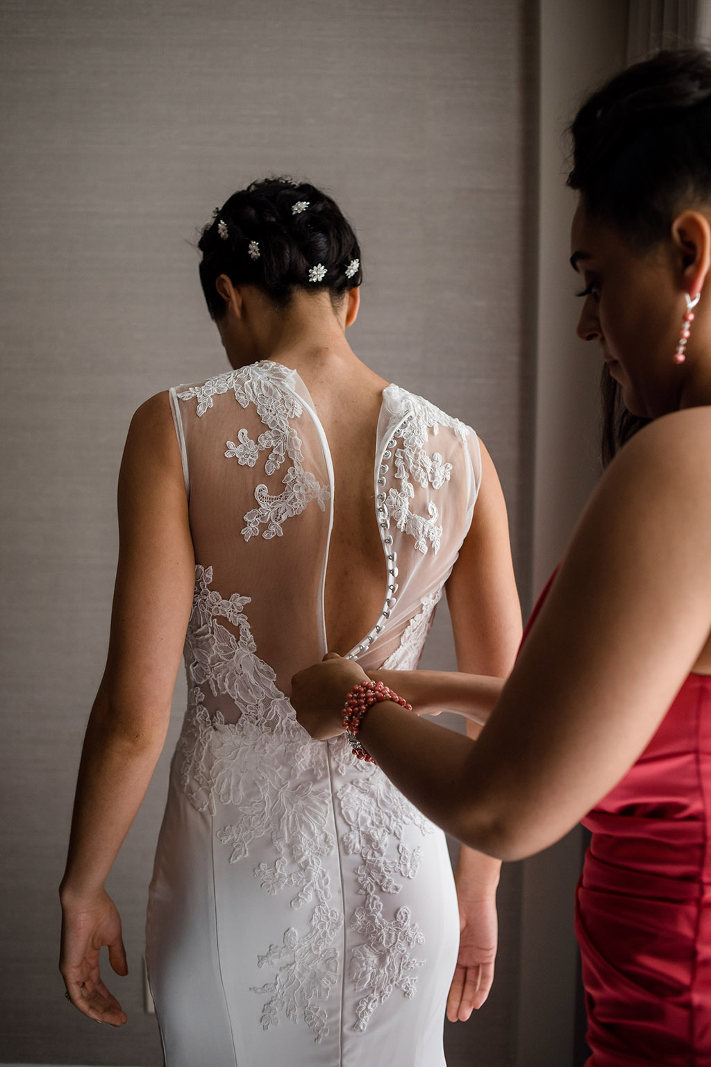
[[[115,973],[128,974],[121,917],[106,890],[90,899],[63,897],[60,971],[68,999],[90,1019],[122,1026],[126,1013],[99,973],[102,944],[109,950],[109,962]]]

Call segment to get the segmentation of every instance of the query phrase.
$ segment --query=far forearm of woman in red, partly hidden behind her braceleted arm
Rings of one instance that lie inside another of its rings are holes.
[[[439,670],[376,670],[370,678],[389,685],[417,714],[454,712],[483,724],[499,699],[504,679]]]

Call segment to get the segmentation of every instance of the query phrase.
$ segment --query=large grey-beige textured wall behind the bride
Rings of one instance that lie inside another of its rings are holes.
[[[361,238],[353,345],[472,423],[527,587],[533,336],[524,0],[4,0],[0,1061],[160,1063],[142,929],[163,758],[111,876],[130,1021],[92,1026],[56,971],[81,735],[106,653],[115,478],[132,410],[223,367],[195,226],[236,187],[330,188]],[[451,662],[442,624],[429,663]],[[180,715],[183,686],[175,702]],[[490,1005],[451,1067],[512,1061],[519,872]]]

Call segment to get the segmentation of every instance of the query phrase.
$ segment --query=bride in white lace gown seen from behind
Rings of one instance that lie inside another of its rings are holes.
[[[185,651],[147,921],[168,1067],[443,1065],[445,1006],[465,1019],[491,985],[499,864],[464,848],[453,878],[377,767],[311,740],[289,680],[329,651],[414,668],[445,588],[460,669],[505,674],[520,614],[496,474],[473,430],[351,350],[361,252],[329,196],[254,182],[200,250],[233,369],[153,397],[128,433],[61,887],[67,997],[126,1021],[99,974],[101,945],[127,972],[105,880]]]

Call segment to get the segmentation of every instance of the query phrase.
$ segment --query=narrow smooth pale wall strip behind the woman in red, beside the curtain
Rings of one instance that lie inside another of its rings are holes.
[[[600,475],[600,353],[575,336],[580,280],[570,269],[576,196],[564,187],[564,130],[594,85],[625,65],[628,4],[540,0],[538,306],[533,576],[540,590],[565,553]],[[570,1067],[579,955],[573,931],[580,828],[523,864],[517,1067]]]

